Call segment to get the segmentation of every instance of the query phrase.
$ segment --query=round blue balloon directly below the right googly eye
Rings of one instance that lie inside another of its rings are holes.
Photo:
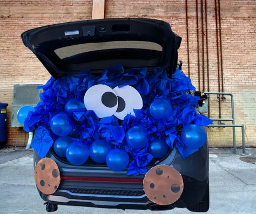
[[[147,130],[143,127],[134,126],[126,133],[126,142],[133,149],[145,147],[147,141]]]

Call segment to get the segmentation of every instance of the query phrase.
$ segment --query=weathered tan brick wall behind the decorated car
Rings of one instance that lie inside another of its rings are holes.
[[[190,73],[198,88],[198,63],[200,64],[200,89],[203,89],[203,44],[201,35],[200,4],[199,56],[197,47],[196,1],[188,0],[188,32],[190,46]],[[204,1],[203,1],[204,2]],[[218,2],[218,1],[217,1]],[[214,0],[207,1],[208,56],[210,91],[218,91],[217,43]],[[204,3],[203,3],[204,6]],[[234,94],[235,119],[246,127],[246,145],[256,146],[256,6],[255,1],[220,1],[223,49],[224,91]],[[26,49],[20,34],[28,29],[54,23],[90,19],[92,1],[0,1],[0,101],[8,102],[10,122],[12,88],[14,84],[44,84],[49,74],[37,58]],[[140,17],[156,18],[171,23],[174,32],[183,38],[179,59],[184,61],[187,74],[186,12],[185,1],[123,1],[106,0],[105,18]],[[205,33],[205,22],[204,22]],[[204,36],[204,47],[206,47]],[[206,49],[204,49],[206,73]],[[207,81],[205,79],[205,91]],[[212,96],[211,118],[218,118],[218,101]],[[230,117],[230,98],[221,101],[223,118]],[[22,146],[27,134],[21,128],[8,127],[8,144]],[[232,146],[231,128],[208,128],[210,146]],[[241,146],[240,129],[237,143]]]

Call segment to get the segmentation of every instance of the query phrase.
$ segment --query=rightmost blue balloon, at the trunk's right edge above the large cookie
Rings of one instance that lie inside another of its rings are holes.
[[[202,127],[190,124],[181,130],[181,140],[187,147],[196,149],[206,143],[207,136]]]

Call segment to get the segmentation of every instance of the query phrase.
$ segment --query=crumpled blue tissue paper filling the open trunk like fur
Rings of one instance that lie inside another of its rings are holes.
[[[176,147],[183,158],[193,154],[199,148],[191,149],[185,146],[180,137],[182,127],[195,123],[198,126],[207,126],[212,121],[204,115],[199,115],[196,106],[199,97],[188,94],[196,88],[190,78],[186,77],[178,68],[171,78],[164,68],[156,67],[152,71],[147,68],[132,68],[124,70],[120,64],[106,68],[101,75],[96,76],[89,70],[80,71],[79,74],[66,75],[58,79],[51,78],[41,93],[41,102],[30,112],[24,122],[24,130],[31,132],[36,129],[31,146],[40,157],[45,157],[52,143],[57,139],[53,134],[49,121],[55,114],[64,111],[65,102],[71,98],[83,101],[88,88],[104,84],[114,88],[130,85],[137,89],[143,99],[143,108],[134,109],[135,116],[127,114],[123,121],[115,116],[99,119],[95,112],[85,108],[76,109],[70,115],[75,124],[73,132],[69,135],[73,141],[83,142],[90,146],[92,142],[104,139],[112,148],[125,150],[130,156],[127,175],[139,175],[147,172],[147,164],[153,156],[147,153],[147,146],[134,150],[126,143],[126,132],[131,127],[141,126],[147,130],[149,142],[164,138],[170,150]],[[173,112],[166,119],[156,120],[150,115],[149,106],[156,98],[170,101]]]

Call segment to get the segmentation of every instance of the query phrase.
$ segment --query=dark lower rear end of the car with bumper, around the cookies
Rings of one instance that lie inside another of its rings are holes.
[[[181,158],[174,149],[164,161],[156,163],[171,165],[183,176],[183,194],[174,204],[166,206],[154,204],[146,197],[143,190],[144,174],[134,177],[127,176],[125,171],[114,172],[106,167],[70,165],[59,161],[51,152],[48,157],[58,164],[61,182],[54,194],[39,194],[44,201],[53,204],[123,210],[169,210],[199,203],[208,186],[207,144],[186,159]],[[38,160],[35,154],[35,161]]]

